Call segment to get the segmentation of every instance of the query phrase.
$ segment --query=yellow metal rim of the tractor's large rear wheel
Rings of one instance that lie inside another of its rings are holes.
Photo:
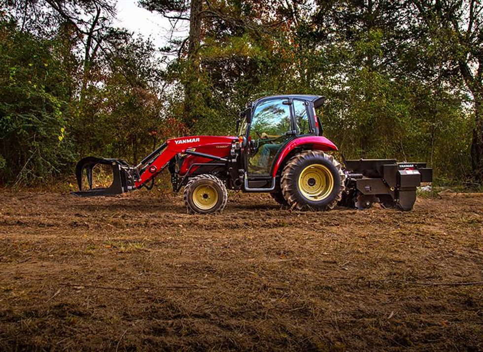
[[[334,176],[329,168],[320,164],[307,166],[299,176],[299,190],[304,197],[314,201],[327,198],[334,189]]]

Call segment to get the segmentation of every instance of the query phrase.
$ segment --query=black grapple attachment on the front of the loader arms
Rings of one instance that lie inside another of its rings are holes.
[[[109,165],[112,169],[112,184],[107,188],[92,188],[92,170],[98,164]],[[84,189],[82,185],[82,174],[84,169],[86,170],[89,189]],[[81,197],[115,195],[134,189],[134,183],[136,177],[138,177],[138,171],[124,160],[87,157],[80,160],[75,166],[75,177],[77,178],[79,191],[72,192],[74,195]]]

